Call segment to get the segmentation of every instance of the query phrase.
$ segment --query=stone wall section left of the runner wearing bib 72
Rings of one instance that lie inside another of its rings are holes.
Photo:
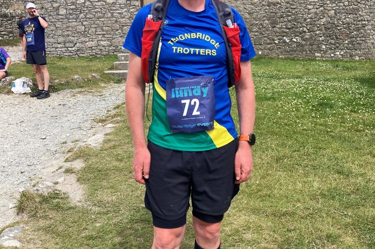
[[[39,14],[49,24],[46,29],[48,56],[67,57],[120,53],[133,16],[140,8],[138,0],[46,0],[35,3]],[[25,15],[23,1],[0,0],[0,7],[2,26],[6,26],[0,33],[0,40],[15,38],[18,36],[17,17]],[[6,8],[10,10],[3,11]]]

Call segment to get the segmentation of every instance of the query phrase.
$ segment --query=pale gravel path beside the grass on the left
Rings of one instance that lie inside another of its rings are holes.
[[[124,103],[124,89],[109,84],[103,91],[65,90],[44,100],[0,94],[0,229],[17,220],[19,190],[29,189],[35,179],[64,181],[58,169],[68,150],[104,132],[104,124],[93,119]]]

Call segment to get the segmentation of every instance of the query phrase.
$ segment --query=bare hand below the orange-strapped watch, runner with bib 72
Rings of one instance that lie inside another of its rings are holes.
[[[247,141],[239,141],[236,157],[234,159],[234,183],[242,183],[249,179],[253,169],[251,145]]]

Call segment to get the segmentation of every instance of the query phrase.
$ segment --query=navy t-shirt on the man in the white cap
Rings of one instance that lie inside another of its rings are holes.
[[[41,16],[44,20],[45,17]],[[44,51],[45,50],[45,34],[44,28],[40,25],[38,17],[27,18],[23,21],[22,33],[26,38],[27,51]]]

